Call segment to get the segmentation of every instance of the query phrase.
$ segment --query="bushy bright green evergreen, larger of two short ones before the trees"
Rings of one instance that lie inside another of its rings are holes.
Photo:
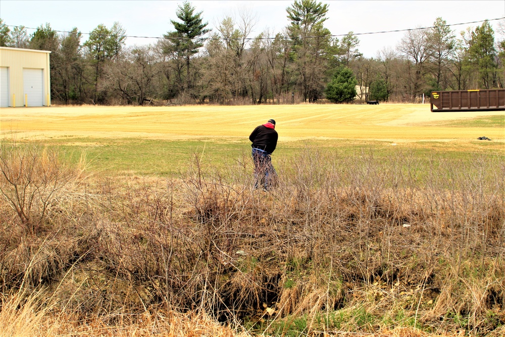
[[[340,67],[326,87],[326,98],[333,103],[349,103],[357,95],[356,84],[356,77],[352,70]]]

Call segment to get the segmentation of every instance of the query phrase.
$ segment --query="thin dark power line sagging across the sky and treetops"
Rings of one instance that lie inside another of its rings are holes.
[[[421,27],[421,28],[408,28],[408,29],[397,29],[397,30],[385,30],[385,31],[378,31],[378,32],[368,32],[368,33],[352,33],[352,34],[337,34],[337,35],[324,35],[324,36],[304,36],[301,38],[315,38],[315,37],[340,37],[340,36],[351,36],[351,35],[372,35],[372,34],[384,34],[384,33],[396,33],[396,32],[406,32],[406,31],[413,31],[413,30],[423,30],[423,29],[431,29],[431,28],[436,28],[436,27],[452,27],[452,26],[461,26],[461,25],[469,25],[469,24],[475,24],[475,23],[481,23],[485,21],[496,21],[496,20],[502,20],[505,19],[505,17],[502,18],[496,18],[496,19],[486,19],[486,20],[480,20],[480,21],[471,21],[471,22],[464,22],[464,23],[454,23],[450,25],[443,25],[443,26],[430,26],[430,27]],[[30,27],[25,27],[25,26],[13,26],[13,25],[6,25],[7,27],[13,27],[13,28],[25,28],[25,29],[33,29],[37,30],[39,28],[30,28]],[[53,30],[57,33],[72,33],[72,31],[65,31],[65,30]],[[187,40],[189,38],[187,37],[159,37],[159,36],[135,36],[135,35],[116,35],[116,34],[93,34],[93,33],[80,33],[82,35],[104,35],[104,36],[116,36],[116,37],[131,37],[131,38],[150,38],[150,39],[169,39],[169,40]],[[291,37],[289,36],[281,36],[281,37],[246,37],[246,38],[227,38],[227,37],[201,37],[198,38],[199,40],[207,41],[207,40],[256,40],[256,39],[261,39],[261,40],[273,40],[276,38],[280,39],[289,39]]]

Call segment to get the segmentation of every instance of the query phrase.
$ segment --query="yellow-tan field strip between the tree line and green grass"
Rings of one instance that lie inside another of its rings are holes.
[[[349,139],[452,142],[479,136],[505,141],[505,112],[433,113],[428,104],[2,108],[3,137],[148,139],[247,139],[254,127],[276,120],[279,142]],[[483,123],[479,121],[484,121]],[[490,121],[486,123],[485,121]],[[482,142],[480,140],[480,142]]]

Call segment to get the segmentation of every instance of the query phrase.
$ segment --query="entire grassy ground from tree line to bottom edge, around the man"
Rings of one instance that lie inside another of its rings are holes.
[[[0,132],[0,337],[505,335],[504,111],[2,108]]]

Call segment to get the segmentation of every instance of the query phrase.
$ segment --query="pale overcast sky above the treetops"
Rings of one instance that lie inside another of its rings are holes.
[[[286,8],[294,0],[193,0],[190,3],[198,12],[203,12],[208,27],[215,28],[226,16],[237,17],[239,11],[248,11],[256,17],[254,37],[269,29],[272,36],[286,25]],[[332,35],[341,39],[349,31],[357,34],[358,49],[365,57],[375,57],[383,47],[395,48],[406,31],[396,30],[431,27],[437,17],[441,17],[459,37],[459,32],[467,27],[474,29],[485,19],[505,17],[505,0],[322,0],[329,5],[325,27]],[[172,0],[0,0],[0,18],[11,26],[23,25],[36,28],[49,23],[58,31],[69,31],[77,27],[82,33],[89,33],[99,24],[111,28],[118,21],[129,36],[127,44],[156,43],[167,31],[174,30],[170,20],[178,20],[176,10],[183,1]],[[495,38],[505,39],[498,29],[498,23],[490,21]],[[462,23],[469,23],[459,25]],[[27,29],[32,33],[33,29]],[[377,33],[376,33],[377,32]],[[381,33],[378,33],[381,32]],[[375,33],[375,34],[372,34]],[[83,35],[82,42],[87,39]]]

